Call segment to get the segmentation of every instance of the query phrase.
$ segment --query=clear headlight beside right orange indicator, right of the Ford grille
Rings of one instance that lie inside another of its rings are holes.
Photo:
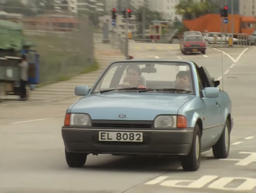
[[[177,116],[159,115],[154,121],[155,128],[173,128],[176,127]]]

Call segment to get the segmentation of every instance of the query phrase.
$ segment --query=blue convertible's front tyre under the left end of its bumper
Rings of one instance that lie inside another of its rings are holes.
[[[65,148],[65,156],[66,156],[66,162],[69,167],[83,167],[87,159],[86,153],[67,152],[66,148]]]

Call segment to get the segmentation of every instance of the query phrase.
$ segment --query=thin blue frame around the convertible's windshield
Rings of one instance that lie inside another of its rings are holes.
[[[95,81],[95,83],[93,84],[92,88],[90,89],[88,94],[96,94],[96,93],[100,93],[100,91],[95,91],[95,89],[97,88],[97,86],[100,84],[100,82],[102,81],[102,79],[105,77],[105,74],[109,72],[109,69],[111,69],[113,67],[113,65],[115,64],[119,64],[119,63],[145,63],[145,62],[154,62],[156,64],[161,64],[161,63],[181,63],[181,64],[187,64],[189,66],[189,71],[191,74],[191,84],[192,84],[192,88],[193,88],[193,92],[191,93],[183,93],[183,94],[189,94],[189,95],[197,95],[197,86],[195,85],[195,74],[194,74],[194,65],[193,63],[191,63],[191,61],[182,61],[182,60],[120,60],[120,61],[116,61],[116,62],[112,62],[106,69],[105,71],[102,72],[102,74],[100,75],[100,77]],[[129,64],[126,64],[129,65]],[[125,91],[125,90],[124,90]],[[131,90],[130,90],[131,91]],[[156,93],[163,93],[165,91],[156,91]],[[112,93],[112,92],[109,92]],[[116,93],[116,92],[114,92]],[[121,92],[120,92],[121,93]],[[123,93],[123,92],[122,92]],[[136,93],[139,93],[138,90]],[[152,93],[152,92],[146,92],[146,93]],[[165,92],[166,93],[166,92]],[[179,93],[180,94],[180,93]]]

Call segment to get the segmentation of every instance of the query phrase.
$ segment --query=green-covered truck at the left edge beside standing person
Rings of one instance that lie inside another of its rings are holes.
[[[39,54],[31,50],[21,24],[0,20],[0,102],[6,95],[19,95],[21,55],[28,58],[28,84],[39,83]]]

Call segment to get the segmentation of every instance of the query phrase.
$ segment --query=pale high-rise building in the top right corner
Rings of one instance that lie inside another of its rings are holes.
[[[256,0],[240,0],[239,12],[242,16],[256,17]]]

